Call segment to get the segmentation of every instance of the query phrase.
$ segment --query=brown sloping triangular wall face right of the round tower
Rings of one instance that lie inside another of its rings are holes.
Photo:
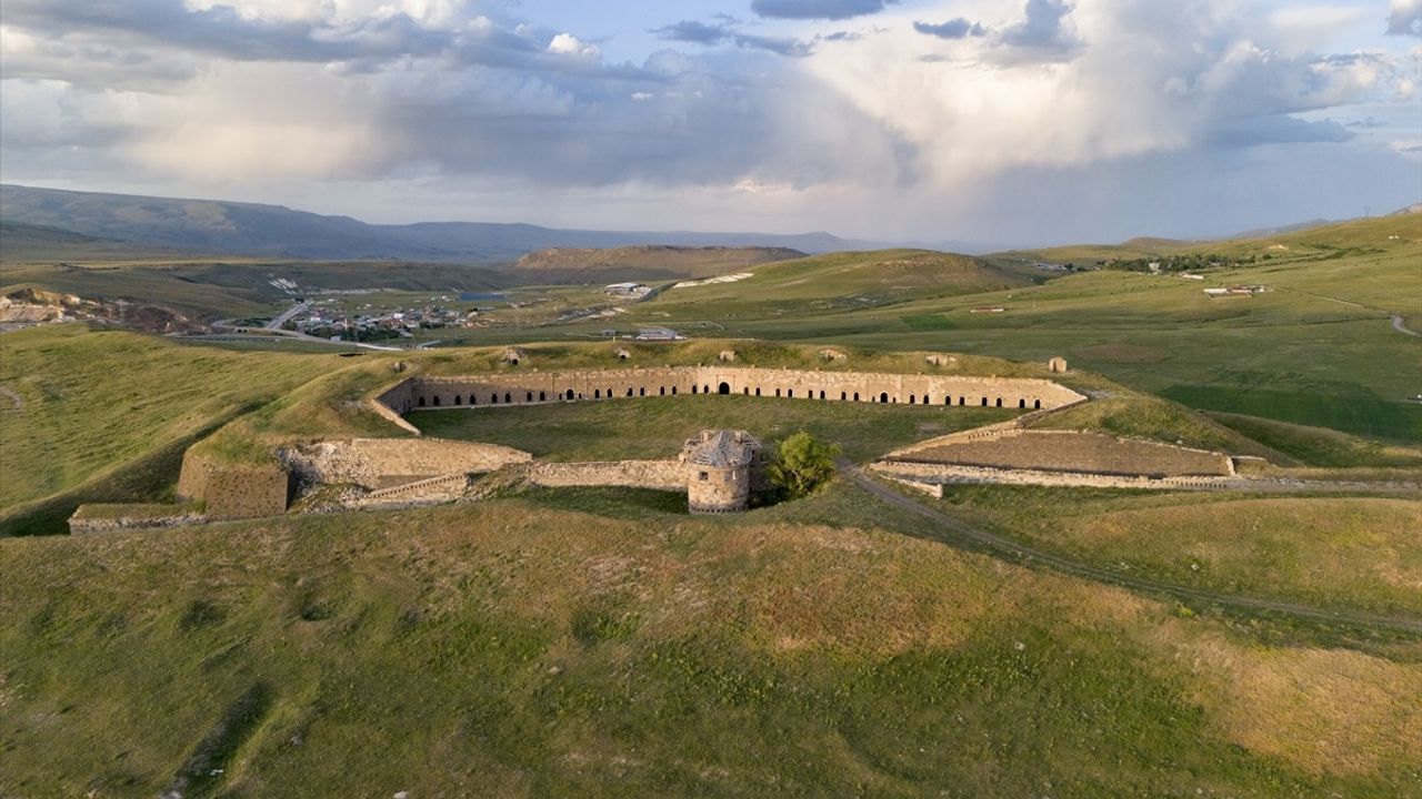
[[[1122,476],[1231,476],[1227,455],[1153,441],[1119,439],[1099,432],[997,431],[896,454],[896,461],[923,461],[991,469],[1038,469]]]

